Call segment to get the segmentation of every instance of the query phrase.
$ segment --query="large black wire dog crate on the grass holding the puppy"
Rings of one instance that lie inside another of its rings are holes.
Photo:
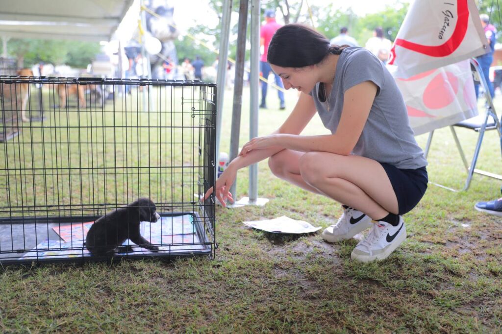
[[[22,94],[44,118],[22,121]],[[144,197],[159,251],[126,240],[114,256],[214,257],[214,200],[199,197],[215,182],[214,84],[0,76],[0,105],[18,133],[0,142],[0,262],[101,259],[93,222]]]

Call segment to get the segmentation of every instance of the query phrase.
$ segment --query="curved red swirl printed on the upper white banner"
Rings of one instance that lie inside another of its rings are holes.
[[[437,46],[422,45],[397,38],[391,49],[390,65],[396,60],[396,46],[415,51],[431,57],[446,57],[451,55],[462,43],[469,22],[469,8],[467,0],[457,1],[457,23],[451,37],[443,44]]]

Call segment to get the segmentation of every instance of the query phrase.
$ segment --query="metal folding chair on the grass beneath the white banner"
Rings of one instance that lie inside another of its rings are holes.
[[[479,68],[479,64],[477,63],[477,61],[474,58],[471,58],[470,65],[471,65],[472,77],[474,79],[474,83],[480,84],[481,87],[483,88],[484,96],[486,98],[486,104],[485,104],[486,105],[486,112],[484,115],[478,115],[478,116],[463,120],[461,122],[458,122],[458,123],[450,126],[451,133],[453,134],[453,139],[455,140],[458,151],[459,151],[460,156],[462,158],[462,161],[465,165],[465,169],[467,170],[467,179],[465,180],[465,186],[462,190],[467,190],[469,188],[471,180],[472,180],[472,175],[474,173],[485,175],[490,178],[502,180],[502,175],[498,175],[498,174],[494,174],[494,173],[490,173],[490,172],[476,169],[476,162],[477,162],[477,158],[479,156],[479,150],[481,149],[481,143],[483,141],[484,132],[486,130],[497,130],[498,136],[500,137],[501,154],[502,154],[502,132],[500,129],[500,120],[498,119],[497,114],[495,112],[495,107],[493,106],[493,101],[491,100],[491,95],[490,95],[490,92],[489,92],[488,87],[486,85],[486,81],[484,79],[484,76]],[[474,149],[474,155],[472,156],[472,161],[471,161],[470,165],[467,163],[467,159],[465,158],[464,151],[462,149],[462,146],[460,145],[460,141],[458,140],[458,136],[455,131],[456,126],[471,129],[471,130],[478,132],[476,148]],[[427,144],[425,147],[425,157],[426,158],[427,158],[427,155],[429,154],[433,134],[434,134],[434,131],[431,131],[429,133],[429,137],[427,139]],[[455,189],[451,189],[451,188],[448,188],[448,187],[445,187],[445,186],[442,186],[439,184],[435,184],[435,185],[440,186],[442,188],[446,188],[451,191],[457,191]]]

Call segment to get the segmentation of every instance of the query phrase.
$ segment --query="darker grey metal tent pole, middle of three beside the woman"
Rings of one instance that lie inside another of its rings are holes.
[[[239,22],[237,30],[237,55],[235,57],[235,79],[233,86],[232,130],[230,134],[230,161],[235,159],[239,149],[240,114],[242,110],[242,85],[244,83],[244,56],[246,51],[247,8],[249,0],[240,0]],[[237,182],[230,188],[230,193],[236,195]]]

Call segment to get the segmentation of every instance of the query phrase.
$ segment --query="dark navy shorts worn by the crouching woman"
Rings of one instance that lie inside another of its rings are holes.
[[[392,188],[396,193],[399,205],[399,214],[410,212],[420,202],[427,190],[427,169],[424,167],[416,170],[400,170],[392,164],[380,162],[384,168]]]

